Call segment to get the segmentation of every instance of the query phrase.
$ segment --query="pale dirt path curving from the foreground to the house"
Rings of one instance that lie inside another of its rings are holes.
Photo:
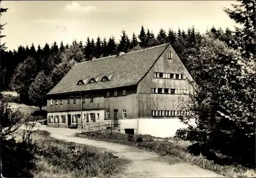
[[[51,133],[51,137],[80,144],[91,145],[111,152],[120,158],[131,160],[116,177],[223,177],[215,172],[188,163],[182,163],[172,156],[160,156],[138,148],[75,137],[79,130],[39,126],[39,130]]]

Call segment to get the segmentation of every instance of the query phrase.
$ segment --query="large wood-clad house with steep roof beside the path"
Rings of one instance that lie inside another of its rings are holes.
[[[114,119],[141,130],[145,119],[177,119],[186,114],[178,102],[189,92],[186,79],[193,80],[169,43],[81,62],[47,94],[48,124],[86,128]]]

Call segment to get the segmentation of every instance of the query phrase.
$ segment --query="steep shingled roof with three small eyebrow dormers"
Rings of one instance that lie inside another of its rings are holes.
[[[47,94],[90,91],[136,85],[162,55],[169,43],[75,64],[61,81]],[[102,77],[110,81],[100,82]],[[90,79],[95,83],[88,84]],[[77,85],[79,80],[83,85]]]

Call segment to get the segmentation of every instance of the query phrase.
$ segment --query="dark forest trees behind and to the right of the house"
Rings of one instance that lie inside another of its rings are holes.
[[[184,123],[196,119],[196,128],[189,131],[197,137],[188,139],[255,167],[255,2],[238,2],[232,10],[224,8],[241,26],[234,31],[212,27],[203,33],[196,27],[178,31],[170,27],[154,34],[141,26],[132,36],[121,31],[119,41],[109,34],[71,44],[31,43],[13,51],[2,44],[1,89],[16,91],[21,103],[41,108],[46,94],[75,63],[170,42],[197,83],[187,103],[190,115],[180,118]],[[1,15],[5,11],[1,8]],[[3,24],[1,38],[2,33]]]

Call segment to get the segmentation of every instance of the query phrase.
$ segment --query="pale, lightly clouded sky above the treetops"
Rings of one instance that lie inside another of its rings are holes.
[[[178,28],[185,31],[194,26],[204,33],[212,26],[233,30],[236,25],[223,8],[232,8],[236,1],[1,1],[1,23],[8,50],[19,45],[43,47],[61,40],[74,39],[86,43],[87,37],[107,40],[112,35],[119,41],[125,30],[131,38],[141,26],[153,31]]]

